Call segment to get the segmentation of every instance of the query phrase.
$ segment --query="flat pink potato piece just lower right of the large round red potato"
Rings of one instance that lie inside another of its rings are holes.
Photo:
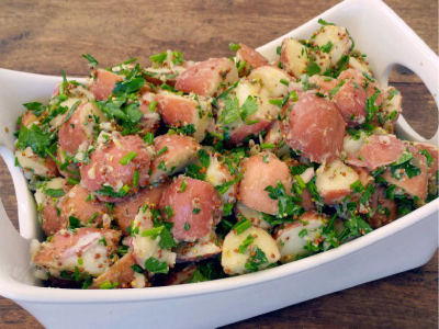
[[[394,135],[360,137],[354,147],[348,147],[345,162],[356,167],[365,167],[369,170],[376,170],[382,166],[387,166],[398,160],[405,148],[404,143]]]

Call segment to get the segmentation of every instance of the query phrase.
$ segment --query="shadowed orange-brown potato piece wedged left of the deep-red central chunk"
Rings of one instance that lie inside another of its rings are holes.
[[[139,189],[138,193],[134,196],[114,204],[113,216],[124,236],[128,236],[127,228],[131,227],[132,222],[138,213],[138,208],[144,205],[156,207],[164,189],[164,185],[146,186]]]

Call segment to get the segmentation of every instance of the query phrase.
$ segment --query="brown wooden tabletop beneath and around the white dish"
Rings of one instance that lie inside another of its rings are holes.
[[[264,1],[22,1],[0,0],[0,67],[45,75],[83,76],[80,55],[104,65],[171,48],[201,60],[229,56],[229,42],[257,47],[293,30],[337,0]],[[385,1],[435,50],[436,0]],[[373,18],[371,18],[373,24]],[[373,36],[371,36],[373,37]],[[438,126],[435,102],[420,80],[394,69],[404,113],[424,136]],[[0,196],[16,226],[13,185],[0,161]],[[79,315],[78,315],[79,316]],[[438,253],[424,266],[262,315],[227,328],[437,328]],[[0,297],[0,328],[42,328],[25,310]]]

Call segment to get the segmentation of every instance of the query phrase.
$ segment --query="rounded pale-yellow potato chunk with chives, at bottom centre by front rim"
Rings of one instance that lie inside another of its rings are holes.
[[[252,237],[252,242],[246,248],[244,253],[238,252],[239,247],[249,236]],[[229,275],[250,272],[250,270],[246,268],[246,264],[250,262],[257,248],[264,253],[267,259],[267,262],[258,265],[258,271],[266,269],[280,259],[279,248],[274,239],[262,228],[250,227],[240,234],[230,230],[223,243],[221,264],[224,268],[224,272]]]

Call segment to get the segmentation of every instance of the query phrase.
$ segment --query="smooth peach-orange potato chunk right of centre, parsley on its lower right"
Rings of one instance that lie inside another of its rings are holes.
[[[240,202],[258,212],[278,214],[278,201],[270,198],[264,190],[268,186],[275,188],[279,181],[286,194],[291,194],[292,179],[288,166],[273,154],[261,152],[241,162],[241,173],[238,192]]]

